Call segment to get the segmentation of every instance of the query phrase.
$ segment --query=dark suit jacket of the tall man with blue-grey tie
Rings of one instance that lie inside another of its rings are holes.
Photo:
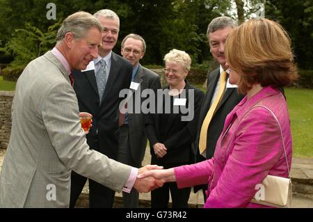
[[[95,70],[73,72],[79,111],[93,114],[93,127],[89,134],[86,134],[87,143],[90,148],[106,154],[111,159],[116,159],[118,155],[118,106],[122,100],[119,98],[119,93],[120,90],[129,88],[132,70],[129,61],[112,52],[111,69],[101,104],[99,104]],[[99,147],[94,142],[97,137]]]

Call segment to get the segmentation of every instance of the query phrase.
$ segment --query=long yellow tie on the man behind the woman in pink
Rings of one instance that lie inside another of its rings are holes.
[[[207,129],[213,117],[213,114],[220,102],[220,99],[224,93],[225,85],[227,79],[227,72],[223,71],[220,73],[220,82],[218,84],[218,93],[214,102],[211,104],[209,111],[207,112],[207,116],[205,116],[204,121],[202,123],[201,132],[200,132],[200,139],[199,139],[199,150],[200,154],[202,154],[207,148]]]

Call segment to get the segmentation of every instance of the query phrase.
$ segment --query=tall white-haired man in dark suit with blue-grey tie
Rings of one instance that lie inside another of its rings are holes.
[[[111,159],[118,157],[120,90],[129,88],[131,63],[112,49],[118,40],[120,19],[112,10],[103,9],[94,14],[103,26],[99,54],[91,62],[93,68],[73,72],[74,90],[79,111],[93,115],[93,127],[86,134],[87,143]],[[74,207],[86,184],[86,177],[72,172],[70,207]],[[89,181],[89,207],[113,207],[115,191],[94,180]]]

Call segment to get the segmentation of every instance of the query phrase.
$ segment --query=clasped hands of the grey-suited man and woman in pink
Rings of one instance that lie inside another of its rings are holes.
[[[174,169],[163,170],[163,166],[147,165],[139,169],[134,188],[140,193],[147,193],[166,182],[175,182]]]

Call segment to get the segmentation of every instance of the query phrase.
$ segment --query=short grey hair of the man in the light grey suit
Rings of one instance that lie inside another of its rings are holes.
[[[56,34],[56,42],[59,43],[65,38],[66,33],[72,33],[74,38],[84,38],[90,28],[99,29],[102,32],[103,28],[99,21],[90,13],[77,12],[69,15],[62,23],[58,33]]]

